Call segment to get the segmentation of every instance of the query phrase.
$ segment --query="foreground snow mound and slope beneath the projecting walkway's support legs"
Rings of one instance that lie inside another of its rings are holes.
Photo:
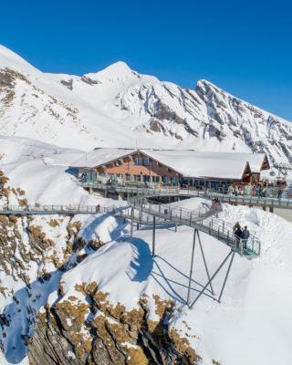
[[[183,203],[188,208],[195,204],[194,199],[193,203],[182,201],[182,206]],[[75,283],[96,281],[99,290],[109,293],[110,303],[120,302],[128,310],[137,307],[141,294],[150,301],[153,294],[162,299],[172,298],[182,311],[177,312],[172,326],[183,336],[190,336],[188,339],[203,357],[203,364],[210,364],[212,359],[224,365],[290,364],[292,224],[274,214],[228,204],[221,215],[226,222],[238,220],[247,224],[262,241],[259,259],[250,261],[235,255],[221,304],[203,296],[193,309],[185,307],[193,242],[193,230],[187,227],[179,227],[177,233],[173,229],[157,230],[154,260],[151,230],[140,230],[134,238],[123,236],[103,246],[62,276],[66,297],[72,293],[80,297],[74,292]],[[213,273],[228,248],[208,235],[201,234],[201,238]],[[198,251],[196,257],[194,278],[203,285],[207,278]],[[224,271],[214,280],[217,294],[223,278]],[[121,289],[125,287],[127,290]],[[199,288],[193,284],[194,287]],[[192,290],[191,298],[194,297]],[[154,306],[150,308],[151,318],[157,319]]]

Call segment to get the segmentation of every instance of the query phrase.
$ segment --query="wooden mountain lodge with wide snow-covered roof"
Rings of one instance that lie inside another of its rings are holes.
[[[99,148],[72,167],[88,183],[219,187],[257,183],[270,168],[266,154]]]

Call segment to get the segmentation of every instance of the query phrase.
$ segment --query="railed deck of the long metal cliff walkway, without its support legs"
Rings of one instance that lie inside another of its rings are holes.
[[[176,195],[178,195],[176,193]],[[192,211],[181,207],[168,204],[145,203],[146,198],[159,196],[158,192],[147,195],[138,195],[136,198],[130,198],[129,203],[123,206],[94,206],[94,205],[3,205],[0,206],[0,214],[2,215],[75,215],[75,214],[119,214],[119,212],[129,210],[141,212],[139,222],[141,224],[156,224],[155,220],[151,220],[149,215],[157,217],[161,223],[168,221],[172,224],[184,224],[191,226],[212,235],[219,241],[230,246],[233,251],[242,256],[249,258],[260,255],[260,241],[255,235],[250,235],[247,242],[236,239],[231,224],[226,224],[223,220],[216,218],[214,215],[218,213],[218,209],[202,208],[201,210]],[[147,221],[142,219],[142,213],[148,214]],[[134,214],[134,213],[133,213]],[[126,216],[126,214],[121,214]],[[128,217],[130,214],[128,213]],[[134,217],[133,217],[134,219]],[[142,222],[143,221],[143,222]],[[138,223],[139,223],[138,222]],[[147,223],[148,222],[148,223]]]

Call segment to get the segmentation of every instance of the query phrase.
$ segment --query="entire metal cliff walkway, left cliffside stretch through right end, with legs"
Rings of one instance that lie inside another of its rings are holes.
[[[145,191],[143,192],[145,193]],[[186,304],[189,308],[193,308],[193,305],[197,302],[206,291],[209,291],[208,296],[213,297],[218,302],[221,301],[223,296],[224,287],[226,285],[227,277],[229,276],[231,266],[235,257],[235,253],[238,255],[254,258],[260,255],[261,244],[255,235],[250,235],[245,242],[242,239],[236,239],[231,224],[226,224],[223,220],[217,218],[217,214],[221,211],[221,208],[210,208],[206,205],[200,207],[196,211],[188,210],[180,206],[173,206],[169,204],[154,204],[149,203],[147,198],[153,196],[165,196],[166,193],[149,192],[149,195],[137,195],[135,198],[130,198],[129,204],[122,206],[92,206],[92,205],[5,205],[0,206],[0,214],[5,215],[37,215],[37,214],[62,214],[62,215],[75,215],[75,214],[113,214],[124,218],[130,218],[130,235],[133,235],[133,224],[151,224],[152,225],[152,255],[155,255],[155,230],[158,224],[184,224],[193,227],[193,248],[191,255],[191,268],[189,274],[188,293],[186,298]],[[178,195],[178,193],[176,193]],[[137,226],[137,229],[139,226]],[[176,230],[176,229],[175,229]],[[229,253],[224,257],[224,260],[214,271],[211,276],[207,265],[206,257],[203,253],[203,244],[199,231],[212,235],[225,245],[230,247]],[[191,298],[193,291],[193,263],[196,255],[195,246],[196,242],[200,247],[201,255],[203,256],[203,265],[208,278],[207,283],[200,287],[199,294],[195,298]],[[229,264],[228,264],[229,261]],[[227,266],[226,274],[222,287],[220,288],[218,297],[215,297],[213,282],[214,277]],[[208,289],[210,287],[210,290]],[[211,293],[211,294],[210,294]]]

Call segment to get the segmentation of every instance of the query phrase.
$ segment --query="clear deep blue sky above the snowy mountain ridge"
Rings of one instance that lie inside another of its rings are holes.
[[[47,72],[117,60],[194,88],[206,78],[292,120],[289,0],[4,0],[0,43]]]

